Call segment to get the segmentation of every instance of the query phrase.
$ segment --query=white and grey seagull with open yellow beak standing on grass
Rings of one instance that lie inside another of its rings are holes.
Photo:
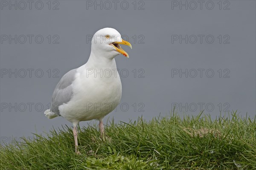
[[[80,121],[99,120],[103,139],[103,118],[113,111],[122,96],[122,84],[116,68],[115,57],[129,58],[119,44],[128,45],[114,28],[103,28],[92,38],[88,61],[67,72],[55,87],[49,109],[44,111],[49,119],[62,116],[73,124],[75,150],[79,154],[77,126]]]

